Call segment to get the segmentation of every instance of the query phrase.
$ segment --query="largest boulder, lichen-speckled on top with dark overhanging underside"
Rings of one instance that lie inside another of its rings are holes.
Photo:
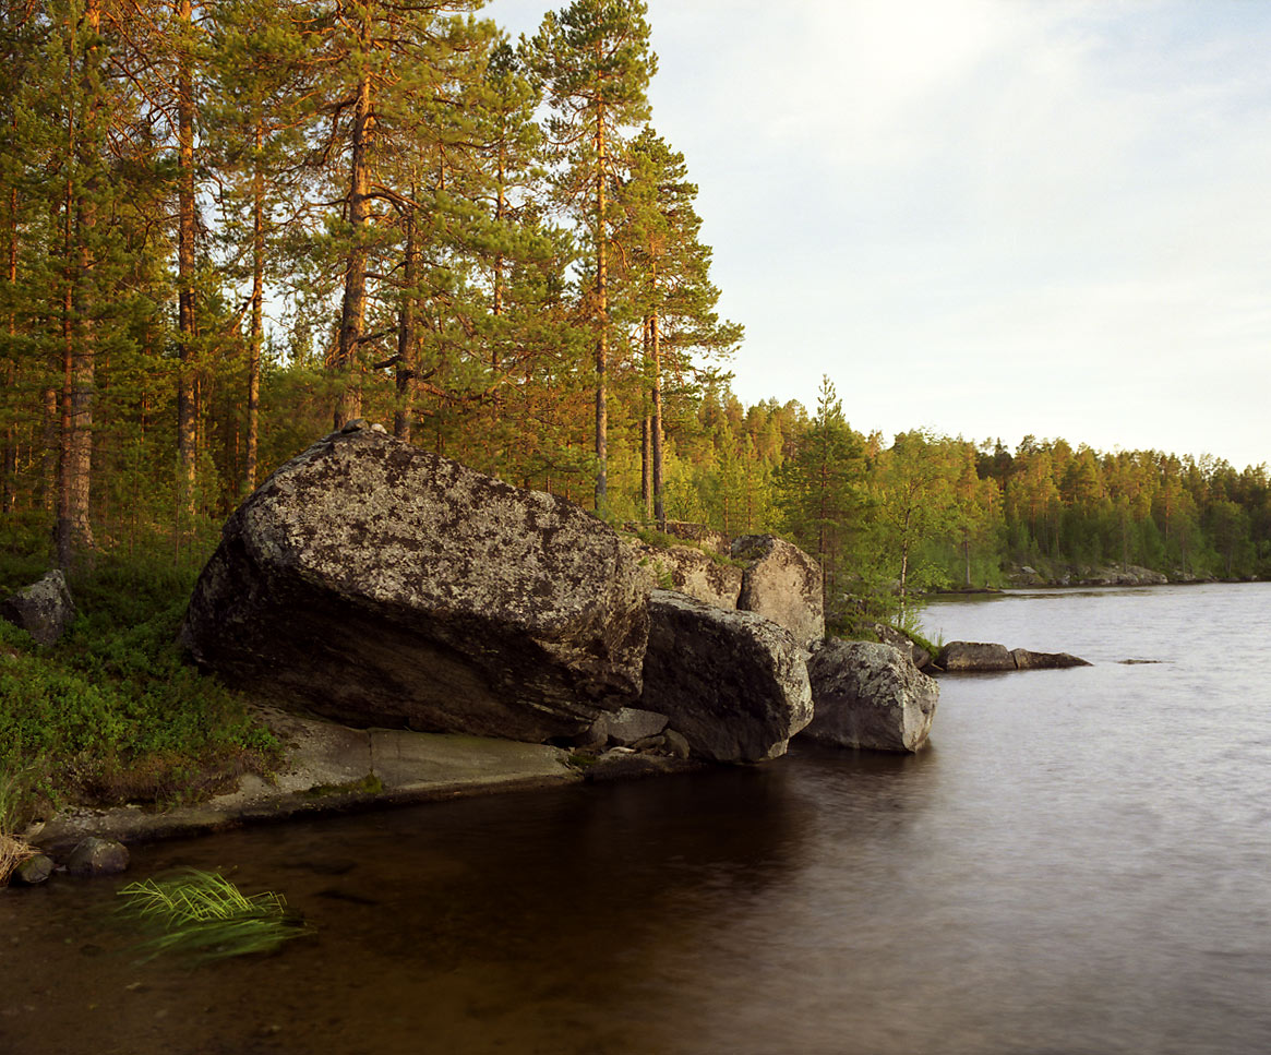
[[[541,741],[639,698],[647,633],[600,520],[355,422],[229,519],[182,641],[350,725]]]

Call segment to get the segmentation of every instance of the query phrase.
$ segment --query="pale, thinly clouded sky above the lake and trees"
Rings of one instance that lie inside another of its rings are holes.
[[[552,6],[493,0],[513,38]],[[557,5],[561,6],[561,5]],[[1271,461],[1271,3],[648,0],[747,405]]]

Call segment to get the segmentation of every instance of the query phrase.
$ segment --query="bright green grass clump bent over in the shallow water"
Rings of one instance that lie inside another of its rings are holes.
[[[121,914],[149,937],[137,946],[153,960],[177,953],[196,962],[273,952],[311,934],[281,894],[245,895],[216,872],[188,869],[165,880],[141,880],[119,890]]]

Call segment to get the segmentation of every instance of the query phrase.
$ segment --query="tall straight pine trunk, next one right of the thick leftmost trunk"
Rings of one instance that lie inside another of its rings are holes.
[[[191,0],[177,0],[184,39],[177,70],[177,314],[180,371],[177,389],[177,461],[180,506],[194,512],[197,421],[194,394],[194,70]]]

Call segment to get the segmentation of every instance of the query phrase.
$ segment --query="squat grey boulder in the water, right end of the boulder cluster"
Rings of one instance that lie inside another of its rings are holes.
[[[916,751],[941,690],[891,644],[826,641],[807,664],[816,717],[799,736],[836,747]]]

